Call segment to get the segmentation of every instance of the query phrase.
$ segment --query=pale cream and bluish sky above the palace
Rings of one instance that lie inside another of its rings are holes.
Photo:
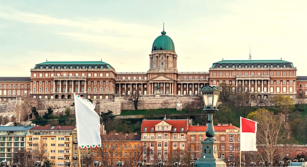
[[[224,60],[292,62],[307,75],[306,0],[0,0],[0,76],[46,61],[102,61],[147,72],[153,41],[175,44],[179,72]]]

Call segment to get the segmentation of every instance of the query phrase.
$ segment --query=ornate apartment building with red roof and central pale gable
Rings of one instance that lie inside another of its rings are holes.
[[[143,119],[141,145],[146,165],[182,160],[187,150],[188,119]]]

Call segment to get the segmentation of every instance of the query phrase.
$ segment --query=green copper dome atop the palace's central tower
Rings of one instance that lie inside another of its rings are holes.
[[[175,51],[175,46],[173,40],[165,35],[166,32],[162,31],[162,35],[158,36],[154,41],[153,41],[153,50],[172,50]]]

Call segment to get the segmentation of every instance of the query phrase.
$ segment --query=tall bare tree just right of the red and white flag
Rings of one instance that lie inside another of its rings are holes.
[[[283,121],[266,109],[257,109],[247,118],[256,120],[258,154],[263,162],[279,160],[278,144],[284,143],[287,136]]]

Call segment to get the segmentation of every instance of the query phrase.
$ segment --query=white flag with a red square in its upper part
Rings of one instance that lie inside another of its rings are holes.
[[[257,151],[257,122],[240,117],[240,151]]]

